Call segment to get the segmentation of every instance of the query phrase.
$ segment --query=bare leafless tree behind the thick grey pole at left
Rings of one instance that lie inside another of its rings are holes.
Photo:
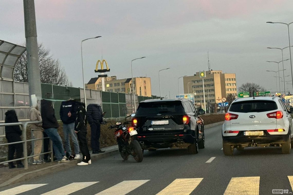
[[[25,44],[24,44],[25,46]],[[65,73],[64,67],[61,66],[59,60],[52,59],[50,51],[45,49],[42,44],[38,46],[40,79],[42,83],[50,83],[56,85],[72,86]],[[19,58],[14,69],[13,78],[15,81],[28,82],[28,61],[26,51]]]

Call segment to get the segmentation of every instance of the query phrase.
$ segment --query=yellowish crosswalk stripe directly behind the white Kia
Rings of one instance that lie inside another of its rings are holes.
[[[232,177],[224,195],[258,195],[260,177]]]

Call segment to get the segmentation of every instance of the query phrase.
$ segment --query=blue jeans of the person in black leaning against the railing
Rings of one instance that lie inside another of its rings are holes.
[[[58,131],[56,128],[48,128],[45,129],[45,133],[50,137],[50,139],[53,142],[53,149],[55,152],[55,156],[57,160],[61,160],[63,156],[65,156],[65,151],[63,148],[63,143],[60,135],[58,134]]]

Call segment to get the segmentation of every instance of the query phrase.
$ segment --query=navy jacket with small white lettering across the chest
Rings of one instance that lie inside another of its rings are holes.
[[[76,101],[69,100],[69,101],[62,101],[60,106],[60,118],[63,122],[63,124],[70,124],[75,122],[76,119],[76,111],[75,108]],[[71,116],[68,116],[68,113],[71,113]]]

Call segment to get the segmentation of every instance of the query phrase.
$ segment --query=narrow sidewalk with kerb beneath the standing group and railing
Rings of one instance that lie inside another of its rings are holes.
[[[91,154],[91,159],[93,161],[105,158],[114,154],[118,153],[118,146],[110,146],[107,148],[103,148],[105,153],[99,154]],[[29,165],[28,169],[25,170],[24,168],[14,168],[9,169],[8,166],[0,168],[0,187],[15,184],[19,182],[23,182],[25,180],[29,180],[38,176],[50,174],[59,170],[63,170],[69,167],[77,166],[76,164],[79,163],[79,160],[70,160],[66,163],[43,163],[40,165]]]

